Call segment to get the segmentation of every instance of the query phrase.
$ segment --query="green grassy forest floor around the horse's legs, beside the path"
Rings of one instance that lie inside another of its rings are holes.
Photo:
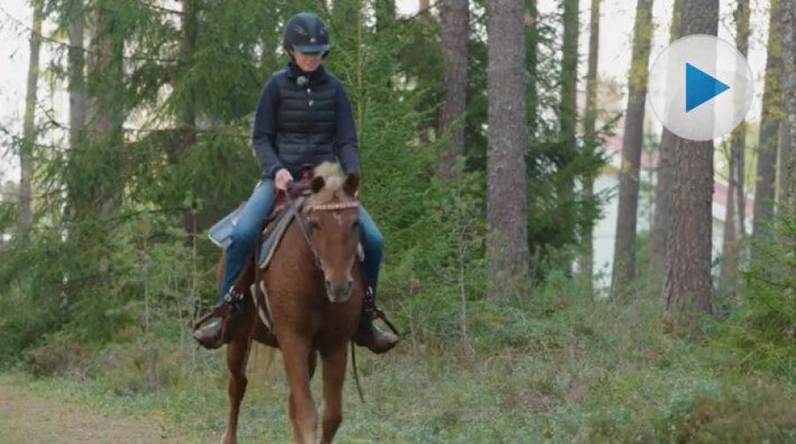
[[[425,333],[387,356],[359,353],[366,401],[349,378],[338,441],[796,440],[792,375],[739,366],[709,334],[670,328],[654,301],[553,292],[524,307],[474,302],[468,312],[469,347]],[[30,387],[111,415],[155,417],[188,440],[218,441],[223,351],[197,351],[174,339],[180,334],[176,325],[128,331],[82,366],[30,379]],[[249,375],[241,441],[290,440],[279,357],[268,374],[261,365]]]

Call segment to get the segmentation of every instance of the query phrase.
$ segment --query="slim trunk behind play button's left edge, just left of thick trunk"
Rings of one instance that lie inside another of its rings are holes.
[[[675,0],[671,15],[669,41],[674,42],[683,35],[683,7],[685,0]],[[665,127],[661,134],[661,149],[658,152],[658,165],[655,173],[655,206],[653,226],[650,234],[650,283],[653,288],[661,288],[666,264],[666,242],[671,226],[672,168],[674,164],[675,135]]]

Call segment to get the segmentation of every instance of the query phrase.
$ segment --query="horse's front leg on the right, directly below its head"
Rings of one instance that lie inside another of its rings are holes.
[[[321,443],[332,442],[342,422],[342,387],[346,377],[348,344],[321,354],[324,368],[324,416]]]

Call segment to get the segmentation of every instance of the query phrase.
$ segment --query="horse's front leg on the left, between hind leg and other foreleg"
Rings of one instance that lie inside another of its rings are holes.
[[[293,440],[315,444],[318,415],[310,393],[310,341],[289,334],[284,336],[279,336],[279,348],[290,385],[288,403]]]

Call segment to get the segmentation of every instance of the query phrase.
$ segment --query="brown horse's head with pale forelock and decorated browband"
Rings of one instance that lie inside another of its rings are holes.
[[[326,296],[331,302],[346,302],[354,287],[352,271],[359,244],[359,203],[354,174],[316,175],[312,194],[303,208],[308,241],[324,273]]]

